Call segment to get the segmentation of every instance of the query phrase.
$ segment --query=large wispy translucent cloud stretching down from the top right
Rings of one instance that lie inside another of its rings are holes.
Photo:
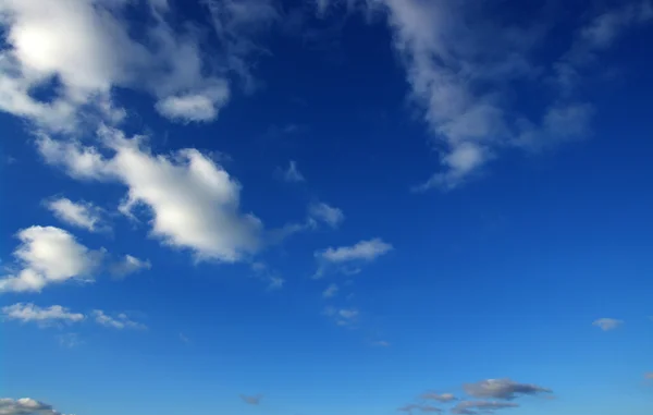
[[[494,11],[473,1],[368,0],[393,30],[394,47],[406,68],[411,98],[423,111],[441,154],[441,169],[415,187],[451,190],[482,171],[506,147],[541,149],[586,136],[590,105],[574,99],[572,87],[557,88],[538,121],[513,108],[513,81],[576,85],[580,68],[636,23],[653,16],[649,1],[630,1],[582,27],[568,52],[545,64],[531,51],[546,32],[542,22],[515,24],[493,19]]]

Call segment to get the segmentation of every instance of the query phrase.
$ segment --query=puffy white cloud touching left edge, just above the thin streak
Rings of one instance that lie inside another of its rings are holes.
[[[23,229],[17,237],[21,245],[13,255],[21,269],[0,279],[0,292],[39,292],[50,283],[89,278],[103,256],[103,251],[90,251],[54,227]]]

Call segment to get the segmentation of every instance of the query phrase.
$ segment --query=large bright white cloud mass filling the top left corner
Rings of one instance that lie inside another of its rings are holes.
[[[210,53],[197,30],[169,23],[165,1],[149,1],[151,7],[139,10],[138,30],[125,16],[134,12],[127,10],[130,3],[0,2],[0,24],[7,29],[0,109],[42,129],[71,132],[89,114],[121,121],[125,111],[113,105],[111,94],[114,87],[127,87],[152,95],[163,117],[206,122],[229,100],[226,72],[236,71],[252,84],[247,62],[256,49],[251,38],[275,19],[271,2],[201,2],[219,34],[220,47]],[[35,98],[37,87],[50,88],[53,97]]]

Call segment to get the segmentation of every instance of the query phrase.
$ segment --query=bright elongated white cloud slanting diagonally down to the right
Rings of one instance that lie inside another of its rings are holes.
[[[197,259],[233,263],[260,247],[262,223],[239,211],[241,185],[215,161],[187,148],[165,157],[152,155],[144,137],[125,138],[101,129],[104,158],[73,142],[39,139],[45,159],[79,179],[118,181],[127,186],[121,211],[138,205],[152,213],[151,234],[164,244],[190,248]]]

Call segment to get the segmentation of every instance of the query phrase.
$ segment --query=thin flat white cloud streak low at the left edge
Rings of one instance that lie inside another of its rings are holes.
[[[2,315],[9,320],[16,320],[20,322],[35,322],[40,327],[50,327],[57,325],[72,325],[82,322],[93,317],[94,320],[104,327],[114,329],[146,329],[146,326],[133,321],[130,317],[124,314],[118,314],[115,317],[111,317],[100,309],[93,310],[89,315],[82,313],[72,313],[65,307],[60,305],[52,305],[50,307],[39,307],[33,303],[16,303],[2,307]]]

